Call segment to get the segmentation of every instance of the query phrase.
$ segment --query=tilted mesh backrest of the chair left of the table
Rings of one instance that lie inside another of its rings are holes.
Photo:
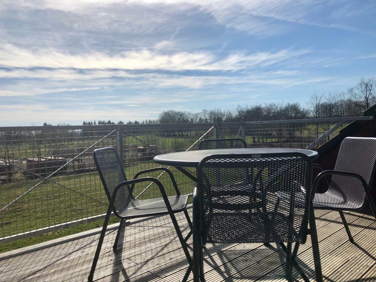
[[[108,200],[111,200],[116,186],[127,180],[123,164],[114,147],[96,149],[93,152],[93,156]],[[132,200],[133,196],[130,187],[128,185],[121,187],[114,202],[114,212],[126,208]]]

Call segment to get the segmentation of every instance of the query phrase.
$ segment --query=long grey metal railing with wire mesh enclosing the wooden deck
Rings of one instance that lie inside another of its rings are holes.
[[[315,149],[350,121],[371,119],[0,127],[0,242],[102,218],[108,201],[92,158],[97,148],[117,148],[132,179],[137,171],[158,166],[154,156],[197,150],[202,139],[238,137],[250,147]],[[192,193],[194,183],[170,169],[180,191]],[[150,176],[173,193],[165,174]],[[153,185],[136,186],[134,193],[141,199],[160,197]]]

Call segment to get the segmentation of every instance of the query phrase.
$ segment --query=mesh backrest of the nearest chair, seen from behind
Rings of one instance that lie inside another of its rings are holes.
[[[306,155],[212,155],[197,176],[204,242],[305,243],[312,180]],[[284,196],[278,205],[276,191]]]

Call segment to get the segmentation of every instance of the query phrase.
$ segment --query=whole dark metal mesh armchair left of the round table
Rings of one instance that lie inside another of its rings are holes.
[[[114,147],[106,147],[94,150],[94,162],[97,166],[103,187],[105,188],[106,196],[109,200],[109,206],[105,217],[105,222],[103,223],[102,232],[99,237],[97,250],[94,256],[88,280],[92,281],[93,279],[94,271],[97,265],[100,249],[102,247],[103,239],[105,237],[111,212],[114,212],[114,214],[121,219],[118,232],[115,238],[115,243],[113,246],[114,250],[116,250],[117,248],[117,243],[120,237],[124,220],[137,217],[169,214],[175,227],[176,233],[179,237],[180,243],[182,244],[186,258],[190,263],[191,256],[186,246],[186,240],[188,240],[192,231],[188,233],[186,238],[183,238],[182,233],[179,229],[179,225],[177,224],[174,215],[177,212],[183,211],[188,221],[188,224],[192,229],[192,223],[189,218],[188,212],[186,211],[188,196],[180,194],[180,191],[177,188],[176,181],[171,171],[164,167],[151,168],[148,170],[139,171],[135,175],[134,179],[127,180],[124,173],[123,165]],[[176,196],[168,197],[161,182],[159,182],[159,180],[156,178],[137,178],[140,174],[150,173],[156,170],[164,170],[169,174],[171,182],[173,183],[173,186],[176,191]],[[162,197],[146,200],[135,199],[132,194],[133,188],[136,183],[140,182],[152,182],[158,185]]]

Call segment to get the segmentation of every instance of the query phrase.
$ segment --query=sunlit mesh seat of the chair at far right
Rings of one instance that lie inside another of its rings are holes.
[[[329,189],[325,193],[316,193],[313,199],[315,209],[359,209],[364,204],[365,196],[361,194],[341,193]]]

